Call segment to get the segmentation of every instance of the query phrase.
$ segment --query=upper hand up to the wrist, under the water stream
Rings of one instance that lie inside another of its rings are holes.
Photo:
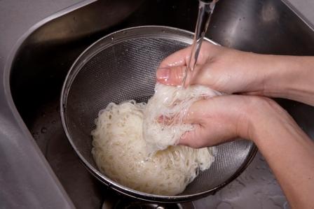
[[[181,85],[191,47],[179,50],[161,62],[156,74],[158,82]],[[264,55],[266,56],[266,55]],[[204,42],[193,75],[186,84],[205,85],[219,92],[263,92],[266,77],[265,58]]]

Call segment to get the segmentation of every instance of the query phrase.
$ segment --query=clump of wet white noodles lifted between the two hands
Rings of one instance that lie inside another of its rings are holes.
[[[183,89],[157,83],[155,94],[149,99],[144,110],[143,136],[148,152],[154,153],[158,150],[165,150],[170,145],[177,145],[186,131],[194,129],[193,124],[182,123],[182,118],[191,104],[219,94],[201,85]],[[175,117],[177,122],[172,124],[158,122],[161,115],[166,118]]]

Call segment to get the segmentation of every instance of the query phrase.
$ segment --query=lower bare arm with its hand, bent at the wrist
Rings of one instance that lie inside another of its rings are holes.
[[[197,101],[184,122],[196,124],[179,144],[206,147],[233,138],[257,145],[292,208],[314,208],[314,143],[275,101],[224,95]]]

